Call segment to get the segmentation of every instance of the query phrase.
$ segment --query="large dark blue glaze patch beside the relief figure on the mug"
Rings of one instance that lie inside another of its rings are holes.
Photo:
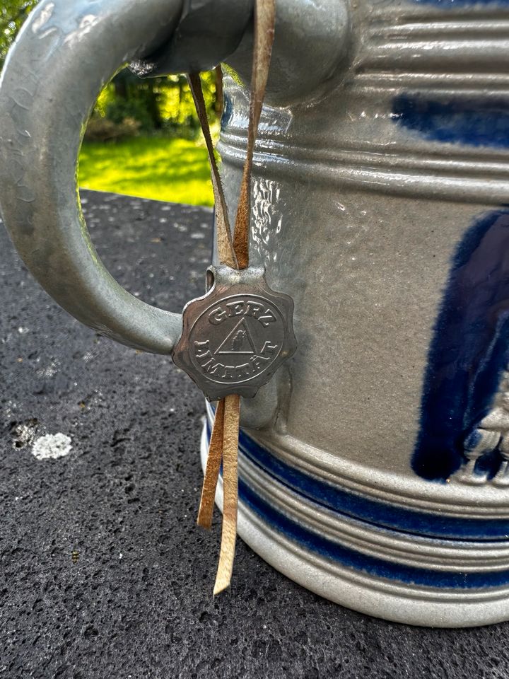
[[[490,211],[465,233],[443,294],[428,354],[412,467],[446,480],[487,414],[509,365],[509,210]],[[493,476],[498,453],[479,461]]]

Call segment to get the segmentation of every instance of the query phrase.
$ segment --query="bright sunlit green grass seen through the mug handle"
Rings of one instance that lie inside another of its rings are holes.
[[[134,137],[116,142],[86,141],[79,185],[192,205],[212,205],[209,161],[199,141]]]

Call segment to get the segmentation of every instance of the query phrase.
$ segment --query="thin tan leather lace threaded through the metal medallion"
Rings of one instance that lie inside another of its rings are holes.
[[[256,0],[254,6],[254,45],[251,76],[250,117],[247,130],[247,153],[242,172],[240,195],[233,238],[231,236],[228,208],[224,197],[221,177],[211,139],[209,121],[206,115],[201,79],[199,74],[189,74],[187,79],[197,108],[206,148],[209,153],[211,178],[216,210],[216,240],[219,262],[233,269],[249,266],[251,174],[254,141],[262,113],[262,105],[269,76],[269,65],[274,42],[276,21],[276,0]],[[207,457],[204,483],[197,523],[211,528],[216,486],[223,463],[223,526],[221,531],[221,552],[219,555],[214,595],[228,588],[235,559],[238,515],[238,436],[240,418],[240,396],[228,395],[218,401],[214,419],[209,455]]]

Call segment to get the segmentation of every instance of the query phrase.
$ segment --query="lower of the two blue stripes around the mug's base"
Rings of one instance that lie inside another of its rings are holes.
[[[274,528],[285,538],[297,542],[310,552],[338,562],[357,571],[363,571],[379,578],[398,580],[407,584],[415,584],[435,588],[472,589],[501,587],[509,583],[509,571],[496,572],[450,572],[434,571],[424,568],[397,564],[378,557],[361,554],[349,547],[343,547],[337,542],[323,538],[307,528],[303,528],[295,521],[270,506],[259,497],[245,482],[239,480],[239,497],[262,518],[271,528]]]

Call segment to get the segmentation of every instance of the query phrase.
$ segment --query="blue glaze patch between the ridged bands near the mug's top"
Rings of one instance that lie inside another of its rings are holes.
[[[392,117],[402,127],[433,141],[498,149],[509,147],[507,99],[433,100],[401,94],[392,103]]]

